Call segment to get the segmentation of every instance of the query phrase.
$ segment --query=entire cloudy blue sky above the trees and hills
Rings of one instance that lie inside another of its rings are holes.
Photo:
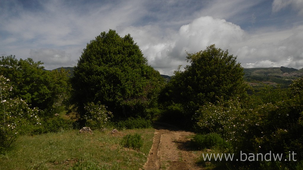
[[[101,32],[131,34],[161,74],[211,44],[244,68],[303,68],[303,0],[0,0],[0,56],[73,67]]]

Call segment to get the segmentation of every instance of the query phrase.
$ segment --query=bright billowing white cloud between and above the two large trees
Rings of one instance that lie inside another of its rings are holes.
[[[231,49],[230,44],[245,38],[245,31],[238,25],[211,16],[197,18],[181,26],[179,31],[145,26],[127,28],[123,32],[134,33],[131,35],[135,41],[139,40],[136,42],[148,58],[149,64],[168,75],[172,75],[178,65],[187,64],[185,51],[198,52],[211,44],[222,49]]]

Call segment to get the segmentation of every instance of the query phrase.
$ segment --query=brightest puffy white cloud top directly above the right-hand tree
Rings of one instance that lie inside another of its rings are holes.
[[[181,57],[185,50],[193,53],[211,44],[228,49],[231,48],[229,44],[242,41],[244,37],[245,32],[238,25],[211,16],[200,17],[180,28],[172,54]]]

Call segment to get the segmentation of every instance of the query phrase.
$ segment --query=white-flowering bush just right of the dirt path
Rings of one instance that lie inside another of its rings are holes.
[[[195,113],[195,130],[204,133],[218,133],[225,140],[234,140],[243,131],[249,110],[242,109],[240,99],[221,100],[202,106]]]

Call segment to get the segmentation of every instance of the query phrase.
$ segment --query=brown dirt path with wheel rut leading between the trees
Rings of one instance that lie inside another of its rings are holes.
[[[191,151],[188,136],[192,132],[186,132],[173,126],[155,124],[155,136],[145,170],[152,169],[203,169],[195,164],[199,152]]]

